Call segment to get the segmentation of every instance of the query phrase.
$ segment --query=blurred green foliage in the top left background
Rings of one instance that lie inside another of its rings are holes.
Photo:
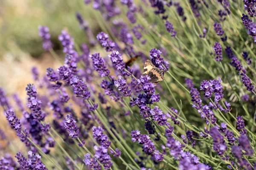
[[[82,0],[1,0],[0,6],[0,56],[12,51],[15,43],[22,51],[37,57],[44,49],[38,36],[38,26],[45,25],[50,29],[55,50],[60,49],[58,35],[62,29],[68,29],[76,43],[87,42],[87,35],[79,29],[76,20],[79,12],[90,23],[94,34],[100,30],[94,22],[93,11],[85,6]]]

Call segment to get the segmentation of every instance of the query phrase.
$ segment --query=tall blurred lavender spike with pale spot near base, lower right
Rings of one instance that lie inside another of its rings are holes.
[[[221,133],[218,132],[218,129],[216,127],[211,127],[210,135],[213,138],[213,150],[215,150],[218,155],[223,155],[224,152],[227,150],[224,137],[221,135]]]

